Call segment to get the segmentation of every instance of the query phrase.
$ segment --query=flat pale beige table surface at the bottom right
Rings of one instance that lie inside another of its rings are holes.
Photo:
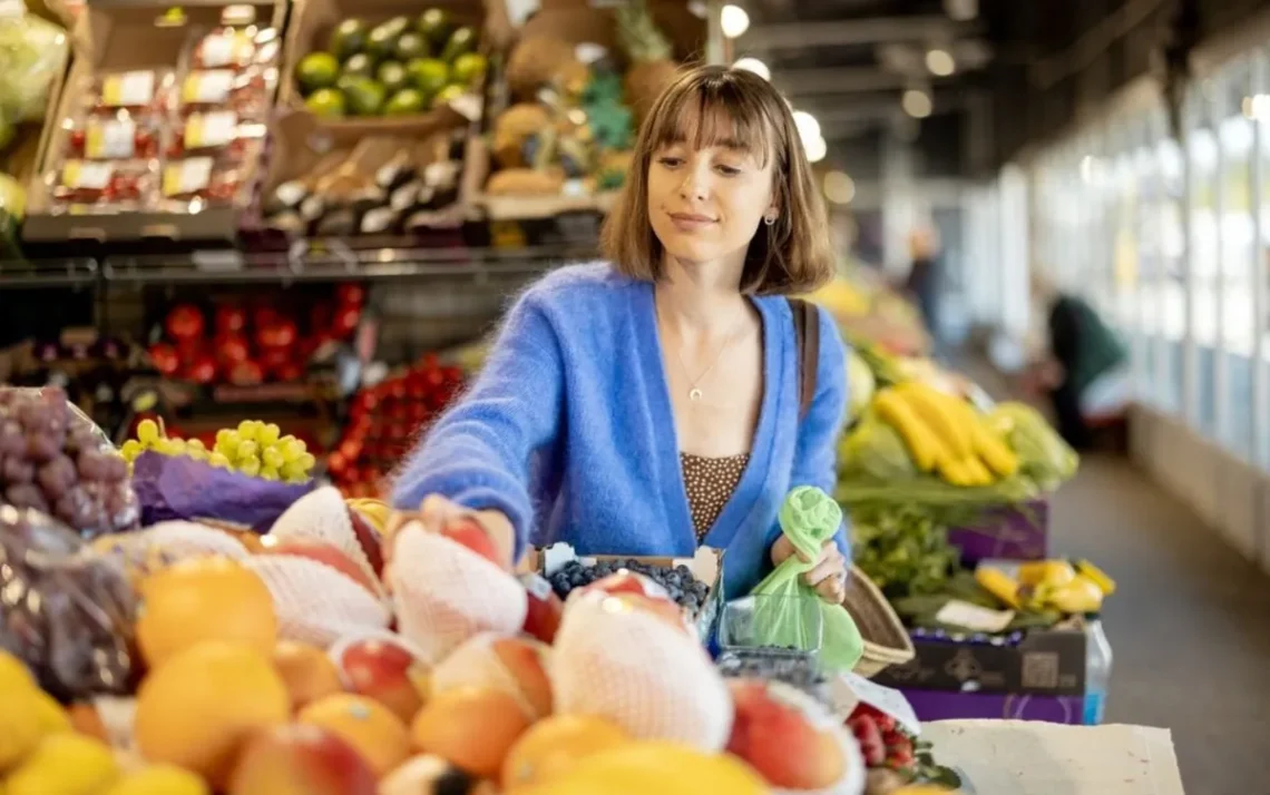
[[[941,720],[922,739],[975,795],[1182,795],[1168,729]]]

